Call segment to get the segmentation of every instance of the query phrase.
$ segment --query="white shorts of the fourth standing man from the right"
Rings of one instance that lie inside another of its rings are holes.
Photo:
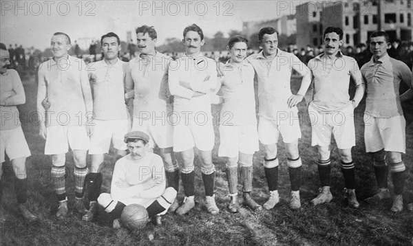
[[[253,155],[260,150],[256,125],[222,126],[220,125],[220,148],[218,156],[237,157],[238,153]]]

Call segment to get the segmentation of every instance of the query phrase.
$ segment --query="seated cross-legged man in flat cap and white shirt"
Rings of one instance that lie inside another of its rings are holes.
[[[102,193],[98,203],[105,208],[118,228],[123,208],[137,203],[147,208],[149,218],[165,214],[176,198],[176,190],[167,188],[162,158],[148,152],[149,136],[141,131],[125,135],[129,155],[116,161],[110,194]],[[158,222],[158,221],[157,221]]]

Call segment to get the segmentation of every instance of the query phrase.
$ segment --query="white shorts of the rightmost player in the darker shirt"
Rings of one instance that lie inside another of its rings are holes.
[[[406,152],[406,121],[403,115],[392,118],[374,118],[364,114],[364,142],[366,152]]]

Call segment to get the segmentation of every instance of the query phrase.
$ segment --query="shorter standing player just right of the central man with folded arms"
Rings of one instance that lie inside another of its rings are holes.
[[[220,63],[223,105],[220,112],[220,148],[218,156],[226,157],[228,208],[239,212],[238,163],[241,166],[243,203],[251,210],[262,210],[251,197],[253,191],[253,155],[258,146],[257,115],[255,113],[254,68],[245,59],[248,40],[243,36],[229,39],[226,49],[231,56]]]

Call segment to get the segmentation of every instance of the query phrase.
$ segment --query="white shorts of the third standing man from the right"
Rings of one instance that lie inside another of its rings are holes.
[[[295,120],[283,120],[277,124],[275,120],[268,120],[260,117],[258,122],[258,137],[262,144],[277,144],[279,133],[282,135],[284,143],[292,143],[301,138],[301,129],[299,128],[298,114],[294,113]]]

